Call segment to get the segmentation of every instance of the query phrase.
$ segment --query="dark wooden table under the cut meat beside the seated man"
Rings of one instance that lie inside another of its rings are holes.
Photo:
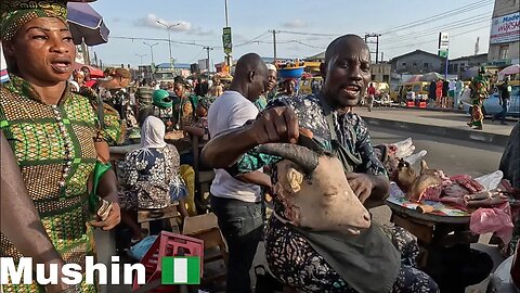
[[[446,213],[440,208],[435,214],[421,214],[413,203],[407,204],[404,199],[390,195],[387,200],[387,205],[392,209],[391,221],[417,237],[420,249],[417,259],[419,268],[429,273],[441,288],[447,286],[450,292],[464,292],[464,288],[473,284],[474,279],[482,281],[489,276],[493,262],[489,255],[470,249],[470,244],[479,240],[479,235],[469,230],[470,214],[457,212],[442,203],[427,203],[437,207],[445,206]],[[473,268],[471,273],[460,272],[467,271],[468,266]]]

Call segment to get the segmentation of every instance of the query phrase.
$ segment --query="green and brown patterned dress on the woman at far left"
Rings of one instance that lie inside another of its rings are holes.
[[[94,168],[94,138],[119,141],[119,130],[99,132],[96,115],[84,97],[65,91],[57,105],[49,105],[29,82],[11,75],[0,88],[0,129],[13,149],[29,196],[54,247],[66,263],[84,268],[84,257],[94,255],[88,213],[87,180]],[[107,123],[107,120],[109,120]],[[116,126],[117,116],[105,115],[105,126]],[[0,234],[0,256],[23,255]],[[3,285],[4,292],[46,292],[36,283]],[[82,292],[96,292],[82,284]]]

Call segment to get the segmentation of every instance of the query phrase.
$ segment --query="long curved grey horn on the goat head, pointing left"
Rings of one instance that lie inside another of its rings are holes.
[[[281,156],[298,164],[306,175],[311,175],[317,167],[318,154],[298,144],[268,143],[258,146],[259,153]]]

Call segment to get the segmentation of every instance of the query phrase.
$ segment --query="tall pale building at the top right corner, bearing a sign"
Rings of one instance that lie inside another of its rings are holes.
[[[520,0],[495,0],[487,64],[520,63]]]

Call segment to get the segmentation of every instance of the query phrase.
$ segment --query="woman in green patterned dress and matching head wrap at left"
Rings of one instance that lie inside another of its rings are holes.
[[[96,123],[89,100],[69,90],[76,49],[66,24],[66,1],[3,0],[1,14],[11,81],[0,88],[0,129],[55,250],[63,262],[84,268],[86,256],[94,255],[92,227],[109,230],[120,220],[114,171],[101,178],[96,190],[113,202],[104,221],[92,221],[87,188],[99,154],[94,139],[119,140],[119,123],[105,115],[104,125],[110,129],[99,130],[96,125],[103,124]],[[1,257],[13,257],[16,263],[24,256],[21,249],[0,234]],[[47,290],[98,292],[96,285],[84,280],[78,286]],[[46,292],[46,288],[36,282],[10,283],[3,291]]]

